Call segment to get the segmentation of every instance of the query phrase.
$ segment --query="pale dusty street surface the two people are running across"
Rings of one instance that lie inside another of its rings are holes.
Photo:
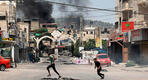
[[[18,68],[7,69],[0,72],[0,80],[41,80],[47,78],[48,63],[23,63],[18,64]],[[80,79],[80,80],[98,80],[99,76],[96,73],[93,65],[75,65],[62,64],[57,62],[57,70],[62,77]],[[122,65],[120,65],[122,66]],[[125,68],[114,64],[111,67],[103,67],[105,74],[104,80],[147,80],[148,68]],[[52,78],[58,76],[51,69]]]

